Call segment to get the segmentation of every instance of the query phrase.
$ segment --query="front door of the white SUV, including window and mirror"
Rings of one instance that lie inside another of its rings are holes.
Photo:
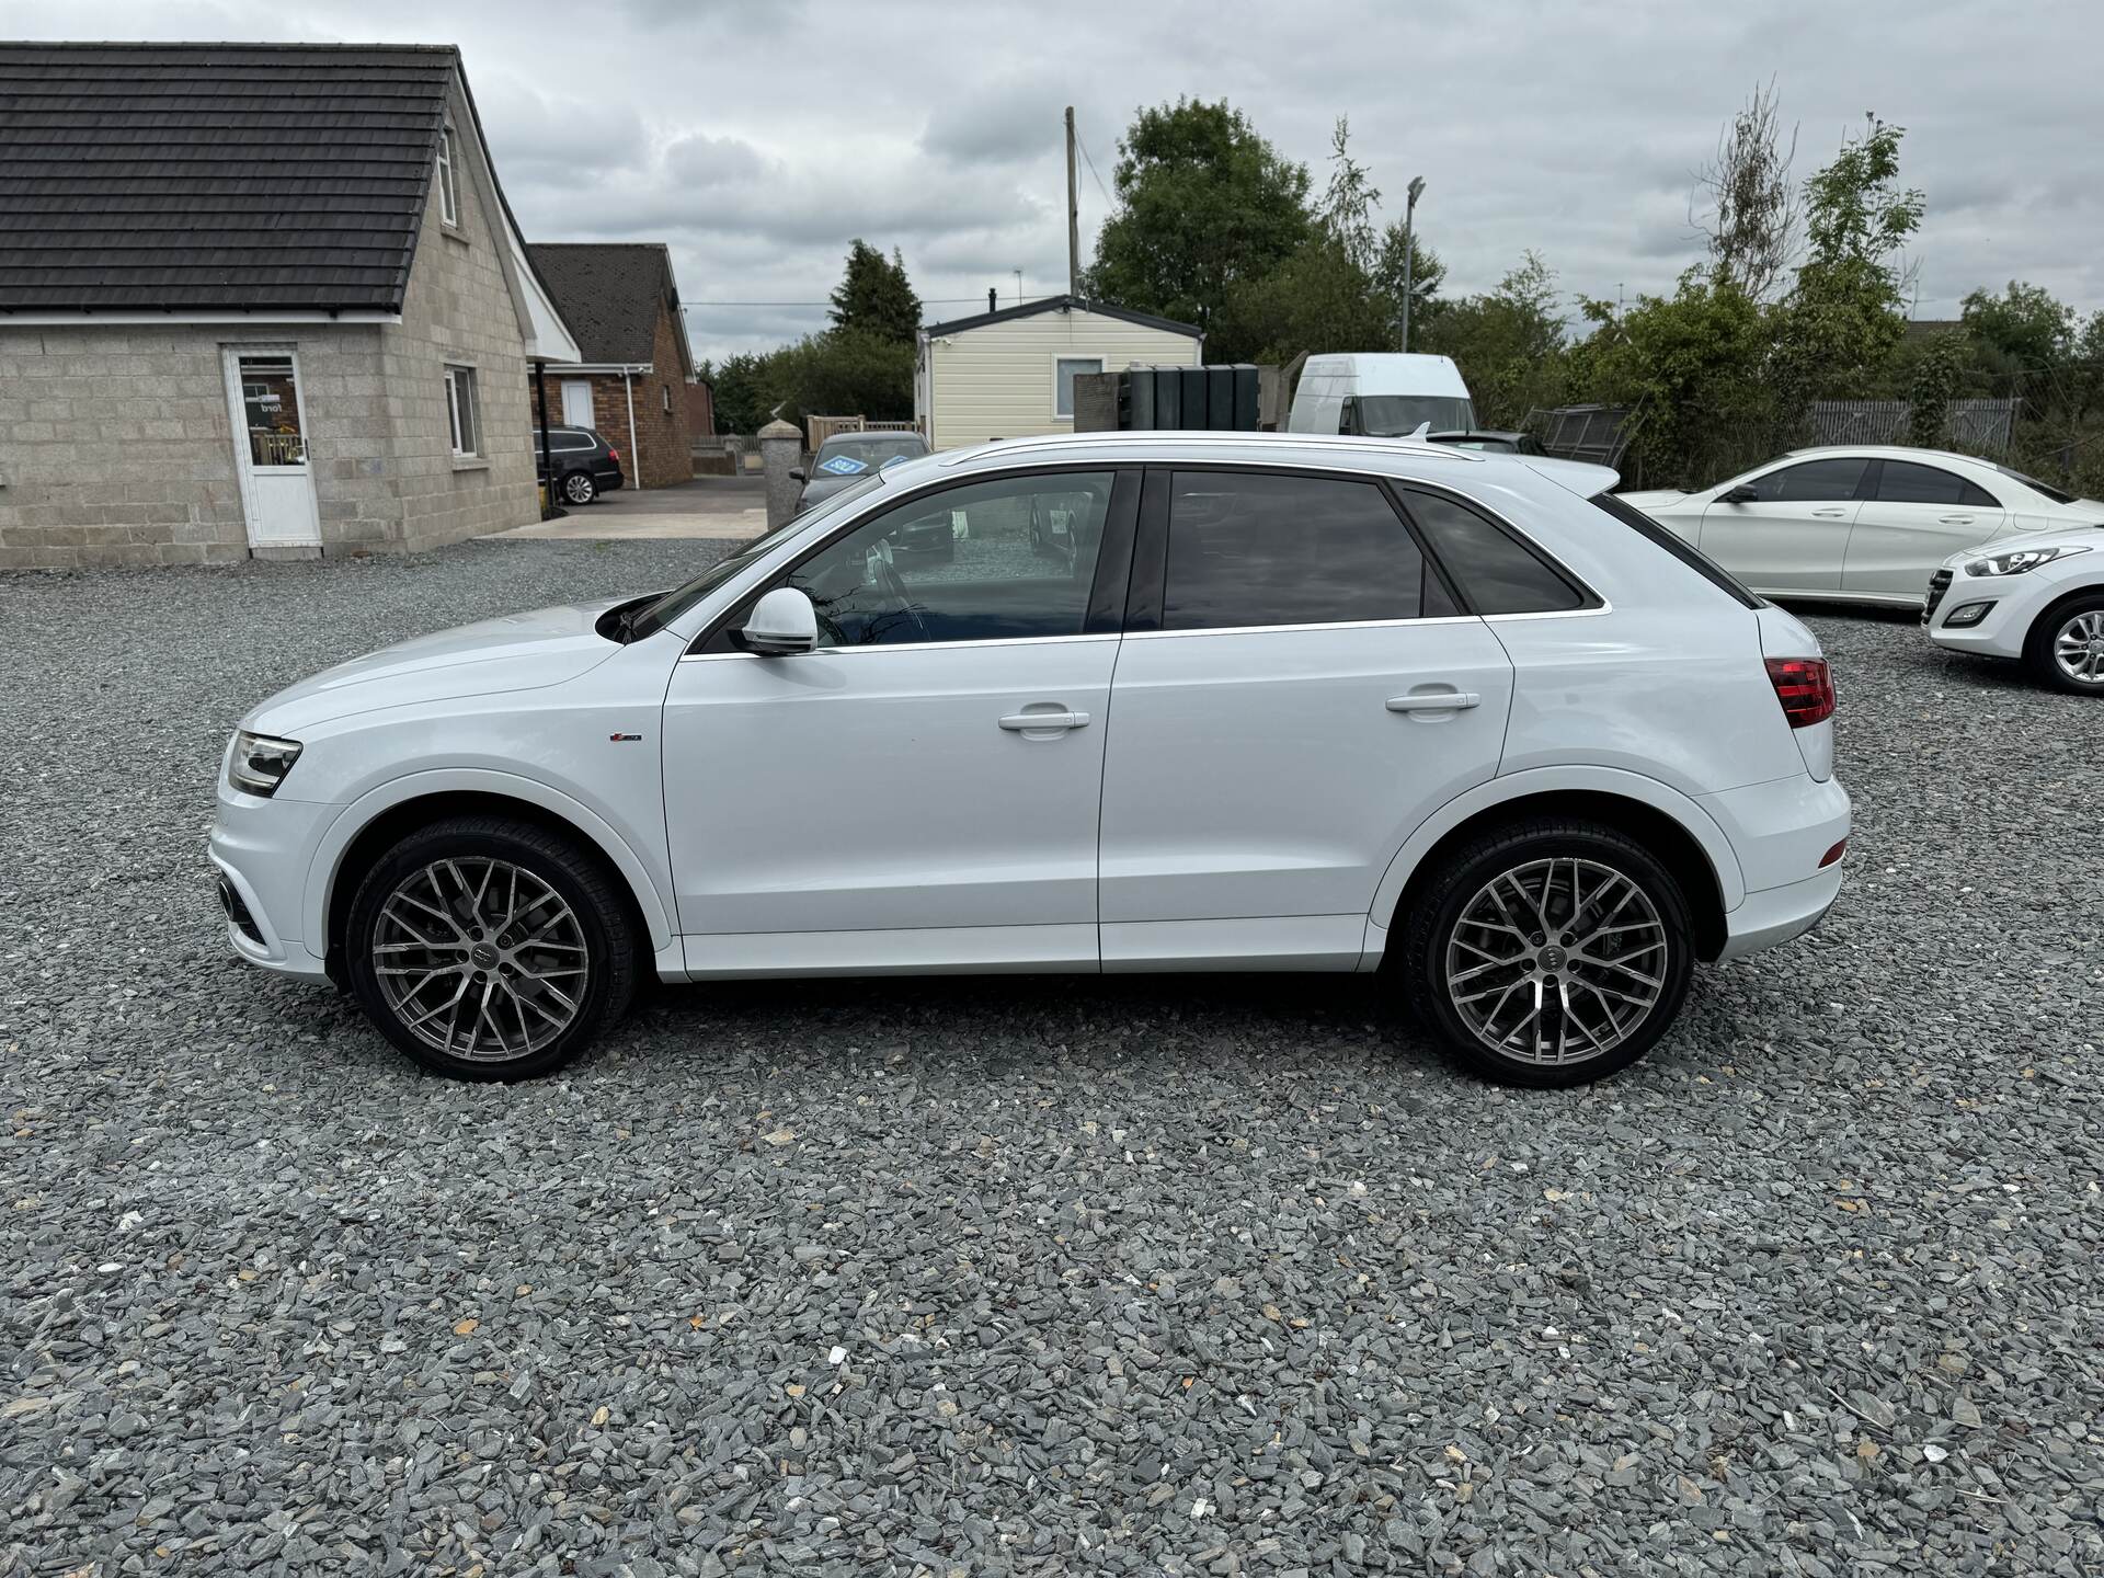
[[[743,652],[741,610],[680,661],[665,816],[690,972],[1096,968],[1136,494],[1111,469],[919,494],[778,579],[821,650]],[[1052,509],[1071,549],[1031,541]]]

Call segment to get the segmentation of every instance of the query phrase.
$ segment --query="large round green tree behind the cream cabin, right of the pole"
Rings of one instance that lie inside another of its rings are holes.
[[[1281,158],[1225,101],[1136,112],[1113,183],[1117,210],[1096,236],[1084,288],[1208,337],[1229,292],[1271,274],[1309,234],[1307,166]]]

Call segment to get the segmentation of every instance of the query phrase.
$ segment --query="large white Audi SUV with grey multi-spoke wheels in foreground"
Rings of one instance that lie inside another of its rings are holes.
[[[1387,968],[1479,1069],[1637,1058],[1841,886],[1818,642],[1597,467],[1016,440],[675,591],[280,692],[227,747],[234,949],[433,1069],[665,980]]]

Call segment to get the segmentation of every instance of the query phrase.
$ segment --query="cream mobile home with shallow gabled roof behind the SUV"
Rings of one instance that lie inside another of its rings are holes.
[[[993,292],[987,292],[991,303]],[[1073,431],[1073,381],[1128,366],[1197,366],[1193,324],[1107,301],[1046,297],[924,324],[913,347],[913,425],[928,448]]]

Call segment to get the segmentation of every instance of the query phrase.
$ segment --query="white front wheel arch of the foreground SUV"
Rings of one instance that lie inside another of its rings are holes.
[[[621,877],[629,919],[638,936],[648,938],[650,951],[661,955],[661,964],[665,951],[675,947],[671,913],[650,869],[589,806],[547,785],[501,772],[421,772],[349,806],[313,854],[307,871],[307,936],[326,938],[324,966],[330,978],[343,957],[345,922],[364,873],[414,829],[463,814],[513,816],[574,839]]]

